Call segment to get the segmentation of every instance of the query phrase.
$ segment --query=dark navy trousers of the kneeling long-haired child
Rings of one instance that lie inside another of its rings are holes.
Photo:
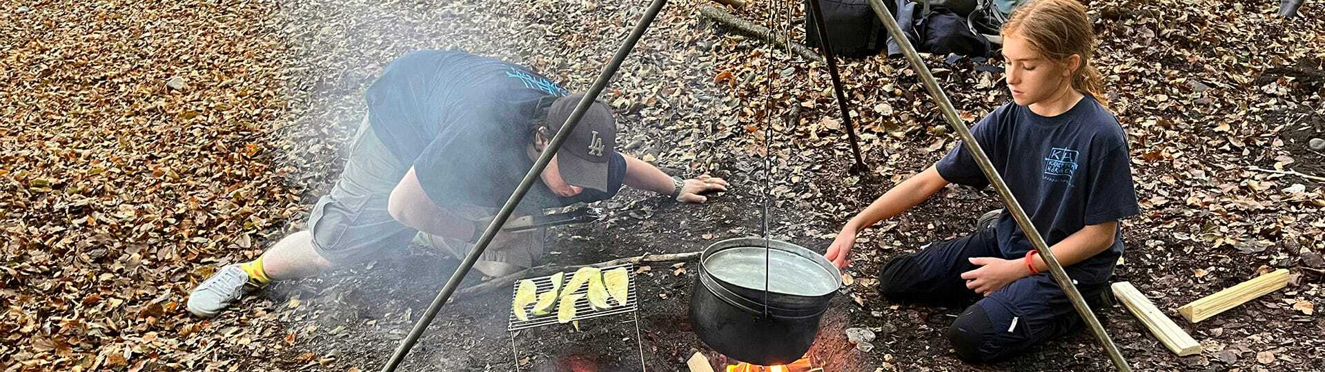
[[[1048,273],[1018,279],[980,297],[966,287],[962,273],[979,269],[971,257],[1002,257],[994,229],[935,242],[896,257],[878,274],[880,293],[894,302],[966,307],[947,330],[947,339],[966,363],[986,363],[1022,352],[1036,343],[1080,328],[1084,322]],[[1108,283],[1079,283],[1092,308],[1101,306]]]

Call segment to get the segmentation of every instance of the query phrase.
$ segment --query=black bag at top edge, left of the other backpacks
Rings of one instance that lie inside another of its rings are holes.
[[[806,0],[806,46],[819,45],[819,28]],[[884,1],[890,3],[892,0]],[[863,58],[878,54],[888,45],[888,29],[869,8],[869,0],[819,0],[828,29],[828,44],[833,54],[848,58]]]

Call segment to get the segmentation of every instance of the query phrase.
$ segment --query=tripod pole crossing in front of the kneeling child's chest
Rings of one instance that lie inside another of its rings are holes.
[[[930,97],[934,98],[934,103],[938,105],[941,111],[943,111],[943,118],[947,119],[947,123],[957,130],[958,135],[962,136],[962,143],[970,148],[971,155],[975,158],[975,163],[979,164],[980,171],[984,172],[984,177],[990,180],[990,184],[994,185],[995,191],[998,191],[999,197],[1003,199],[1004,208],[1012,213],[1012,218],[1015,218],[1016,224],[1022,226],[1022,232],[1024,232],[1026,237],[1031,240],[1031,245],[1034,245],[1035,249],[1040,252],[1040,256],[1044,257],[1044,263],[1049,266],[1049,273],[1053,274],[1053,279],[1059,282],[1059,287],[1061,287],[1063,291],[1067,293],[1068,299],[1072,301],[1072,307],[1075,307],[1077,314],[1086,320],[1086,324],[1089,324],[1094,338],[1098,339],[1100,344],[1104,346],[1104,349],[1109,352],[1109,357],[1113,359],[1113,365],[1117,367],[1118,371],[1130,372],[1132,367],[1128,365],[1128,360],[1122,357],[1122,352],[1120,352],[1118,347],[1113,344],[1112,339],[1109,339],[1109,334],[1104,331],[1104,326],[1100,324],[1100,319],[1094,318],[1094,312],[1090,312],[1090,306],[1085,303],[1085,299],[1081,298],[1081,293],[1077,291],[1075,285],[1072,285],[1072,278],[1068,278],[1068,273],[1063,271],[1063,266],[1059,265],[1057,257],[1053,257],[1053,250],[1051,250],[1048,244],[1044,242],[1044,237],[1041,237],[1040,232],[1031,224],[1031,217],[1026,214],[1026,210],[1022,209],[1022,204],[1016,203],[1016,197],[1012,195],[1012,191],[1007,188],[1006,183],[1003,183],[1003,177],[994,169],[994,163],[990,163],[990,158],[984,155],[984,150],[980,147],[980,143],[971,136],[970,128],[962,123],[962,119],[957,115],[957,109],[953,107],[953,102],[947,99],[947,94],[945,94],[938,86],[938,81],[934,79],[929,68],[925,66],[925,61],[922,61],[920,54],[916,53],[916,48],[910,45],[910,40],[902,34],[902,29],[897,25],[897,20],[892,17],[888,8],[885,8],[880,0],[869,0],[869,5],[874,9],[874,16],[878,16],[878,19],[884,21],[884,26],[888,28],[888,33],[897,40],[897,45],[901,46],[902,53],[906,54],[906,60],[910,61],[912,68],[920,73],[920,81],[925,83],[925,89],[929,90]]]

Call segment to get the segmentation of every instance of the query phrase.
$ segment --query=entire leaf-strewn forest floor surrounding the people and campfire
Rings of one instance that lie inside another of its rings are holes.
[[[379,369],[456,258],[384,250],[276,283],[215,319],[182,303],[215,267],[305,228],[343,165],[363,90],[391,58],[465,49],[583,90],[647,4],[240,3],[0,4],[12,20],[0,24],[12,30],[0,33],[0,50],[15,50],[0,61],[19,66],[0,73],[12,82],[0,97],[13,98],[0,113],[19,118],[0,124],[9,237],[0,242],[0,371]],[[765,20],[768,1],[750,3],[733,12]],[[1124,222],[1113,281],[1134,283],[1206,351],[1174,356],[1120,306],[1097,310],[1110,336],[1136,371],[1325,369],[1325,318],[1302,310],[1325,304],[1325,183],[1251,169],[1325,176],[1325,154],[1306,148],[1325,136],[1325,5],[1308,1],[1306,17],[1283,20],[1269,0],[1088,3],[1143,209]],[[592,205],[600,222],[553,229],[546,262],[757,236],[766,185],[771,236],[823,252],[847,218],[954,146],[905,61],[847,60],[871,165],[849,175],[825,68],[767,54],[698,17],[704,4],[672,1],[602,101],[617,110],[619,150],[676,175],[726,177],[733,191],[702,205],[623,191]],[[146,41],[109,42],[117,33]],[[996,60],[943,60],[928,57],[969,122],[1008,101],[999,74],[977,69]],[[176,75],[189,86],[171,87]],[[961,237],[995,208],[988,189],[950,187],[863,234],[811,356],[825,371],[1112,371],[1085,331],[1002,363],[962,364],[943,338],[961,308],[877,295],[885,259]],[[648,371],[686,371],[694,352],[721,359],[690,332],[694,263],[648,267],[637,271],[639,323],[610,316],[513,338],[505,287],[447,304],[399,371],[637,371],[636,342]],[[1284,290],[1196,324],[1178,316],[1187,302],[1277,267],[1292,273]],[[482,279],[470,274],[462,287]],[[877,335],[872,349],[848,342],[853,327]]]

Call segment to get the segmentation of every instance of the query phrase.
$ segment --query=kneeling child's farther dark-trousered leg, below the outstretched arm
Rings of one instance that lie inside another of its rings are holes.
[[[992,229],[967,237],[935,242],[917,253],[894,257],[878,274],[878,293],[889,301],[961,304],[977,298],[966,287],[962,273],[978,269],[967,258],[996,257]]]

